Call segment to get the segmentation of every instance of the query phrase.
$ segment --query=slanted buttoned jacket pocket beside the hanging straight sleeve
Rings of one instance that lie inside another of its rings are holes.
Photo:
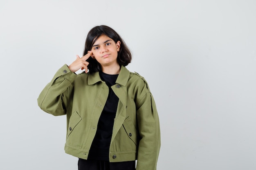
[[[134,124],[130,120],[130,117],[127,117],[124,121],[124,129],[128,135],[128,137],[134,142],[134,144],[137,146],[137,136],[138,136],[138,131],[135,128]]]

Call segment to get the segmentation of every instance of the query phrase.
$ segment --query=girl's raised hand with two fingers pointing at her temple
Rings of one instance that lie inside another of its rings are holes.
[[[92,55],[92,51],[88,51],[88,53],[86,55],[84,55],[83,57],[79,57],[79,55],[76,55],[76,60],[74,62],[72,62],[72,64],[70,64],[68,66],[68,68],[70,69],[70,71],[72,71],[73,73],[78,71],[80,68],[81,70],[85,69],[85,73],[88,73],[88,68],[87,66],[89,65],[89,62],[87,62],[86,60]]]

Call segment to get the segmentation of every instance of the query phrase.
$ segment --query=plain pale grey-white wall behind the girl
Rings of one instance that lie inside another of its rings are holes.
[[[77,169],[37,97],[105,24],[155,98],[158,170],[255,170],[255,18],[255,0],[0,0],[0,169]]]

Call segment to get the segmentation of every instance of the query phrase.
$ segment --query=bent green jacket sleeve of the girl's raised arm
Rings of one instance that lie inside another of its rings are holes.
[[[62,66],[52,81],[40,93],[37,99],[38,106],[54,116],[65,115],[67,102],[72,91],[72,82],[76,76],[66,64]]]

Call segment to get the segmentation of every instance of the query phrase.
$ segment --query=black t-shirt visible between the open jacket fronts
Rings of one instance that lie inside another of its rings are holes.
[[[101,79],[109,88],[108,99],[99,118],[96,135],[92,141],[88,159],[109,161],[109,148],[112,137],[114,119],[117,112],[119,98],[113,92],[111,86],[115,84],[117,75],[99,73]]]

